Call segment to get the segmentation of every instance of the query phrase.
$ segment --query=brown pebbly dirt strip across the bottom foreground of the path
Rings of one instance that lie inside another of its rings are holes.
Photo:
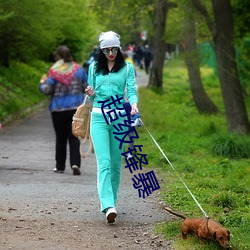
[[[173,249],[153,234],[153,225],[117,222],[0,219],[0,248],[5,249]]]

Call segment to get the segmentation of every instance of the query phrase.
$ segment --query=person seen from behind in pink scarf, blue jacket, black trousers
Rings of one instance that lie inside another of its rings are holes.
[[[73,175],[80,175],[80,142],[72,134],[72,117],[84,100],[84,87],[87,74],[73,61],[67,46],[59,46],[55,51],[55,64],[50,68],[48,77],[41,79],[40,91],[50,95],[49,110],[56,135],[55,173],[64,173],[66,168],[67,142],[69,141],[70,166]]]

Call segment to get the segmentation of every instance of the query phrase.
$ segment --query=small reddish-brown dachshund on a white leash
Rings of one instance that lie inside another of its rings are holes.
[[[201,241],[216,241],[224,249],[231,249],[229,245],[230,232],[222,225],[210,218],[187,218],[185,215],[173,212],[171,209],[163,207],[166,211],[183,219],[181,233],[183,239],[187,239],[188,234],[196,235]]]

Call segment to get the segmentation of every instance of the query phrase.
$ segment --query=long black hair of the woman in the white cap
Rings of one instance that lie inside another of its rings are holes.
[[[123,68],[125,66],[125,59],[121,53],[121,50],[118,49],[117,51],[117,55],[115,58],[115,65],[112,69],[112,72],[117,72],[119,71],[121,68]],[[97,63],[96,63],[96,73],[97,74],[103,74],[103,75],[107,75],[109,74],[109,69],[108,69],[108,64],[107,64],[107,58],[106,56],[103,54],[102,50],[100,50],[99,56],[97,58]]]

